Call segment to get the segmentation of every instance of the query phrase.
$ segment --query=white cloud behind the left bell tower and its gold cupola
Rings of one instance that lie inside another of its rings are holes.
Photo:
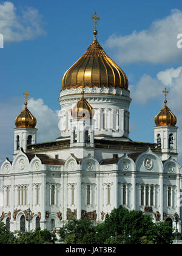
[[[5,157],[9,157],[10,160],[13,158],[14,122],[16,116],[24,108],[24,105],[19,102],[22,102],[22,98],[10,98],[0,103],[0,164],[4,162]],[[37,119],[37,142],[56,140],[60,136],[58,110],[54,111],[49,108],[42,99],[29,99],[27,107]]]

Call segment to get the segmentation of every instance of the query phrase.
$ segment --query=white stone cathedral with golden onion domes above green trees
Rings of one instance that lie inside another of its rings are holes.
[[[154,143],[130,140],[127,76],[93,34],[62,78],[61,137],[36,143],[27,100],[15,119],[13,161],[6,158],[0,170],[0,219],[11,231],[59,229],[70,219],[102,222],[119,205],[173,226],[181,215],[177,118],[165,97]]]

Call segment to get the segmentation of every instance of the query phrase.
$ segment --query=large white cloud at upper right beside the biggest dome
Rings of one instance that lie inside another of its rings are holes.
[[[182,12],[174,9],[169,16],[153,21],[149,29],[130,35],[111,35],[106,42],[118,63],[180,62],[182,50],[177,48],[177,35],[182,33]]]

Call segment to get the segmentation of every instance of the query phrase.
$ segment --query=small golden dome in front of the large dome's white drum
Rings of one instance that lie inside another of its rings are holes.
[[[87,100],[84,98],[84,91],[82,91],[82,98],[79,99],[76,105],[71,109],[71,115],[73,119],[93,118],[94,110],[89,102],[87,102]]]

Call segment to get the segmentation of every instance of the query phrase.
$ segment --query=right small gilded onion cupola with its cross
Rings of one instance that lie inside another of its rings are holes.
[[[155,124],[156,126],[175,126],[177,123],[177,117],[170,111],[170,109],[167,107],[167,100],[166,95],[169,93],[169,91],[165,90],[163,91],[165,93],[165,100],[164,100],[164,107],[161,109],[161,111],[155,116]]]

